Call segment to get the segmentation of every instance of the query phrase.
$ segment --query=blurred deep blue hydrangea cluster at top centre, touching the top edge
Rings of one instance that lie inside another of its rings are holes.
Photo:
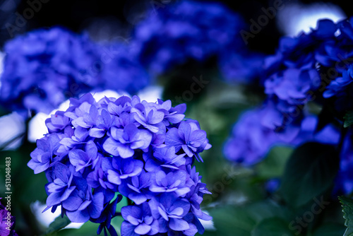
[[[184,0],[150,12],[136,25],[133,44],[154,73],[216,57],[226,77],[245,79],[257,75],[262,57],[246,50],[244,28],[241,16],[220,3]]]

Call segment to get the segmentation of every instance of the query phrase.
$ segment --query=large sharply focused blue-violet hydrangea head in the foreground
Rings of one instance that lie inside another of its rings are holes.
[[[137,96],[71,98],[68,110],[47,119],[49,134],[28,163],[47,176],[47,209],[61,206],[72,222],[91,220],[100,223],[98,234],[116,235],[110,222],[120,214],[119,192],[133,201],[121,209],[122,235],[202,233],[200,219],[210,216],[200,204],[210,192],[192,165],[211,146],[185,110]]]

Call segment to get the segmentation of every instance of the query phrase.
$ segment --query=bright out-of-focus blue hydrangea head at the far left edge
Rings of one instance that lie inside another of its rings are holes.
[[[13,110],[49,113],[67,98],[92,88],[102,80],[85,73],[100,56],[87,35],[64,28],[35,30],[15,37],[4,47],[1,100]]]

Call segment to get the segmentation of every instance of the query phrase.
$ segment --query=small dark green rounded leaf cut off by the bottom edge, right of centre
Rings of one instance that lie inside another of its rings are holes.
[[[289,230],[289,223],[281,218],[273,217],[262,220],[251,232],[251,236],[291,236],[294,232]]]

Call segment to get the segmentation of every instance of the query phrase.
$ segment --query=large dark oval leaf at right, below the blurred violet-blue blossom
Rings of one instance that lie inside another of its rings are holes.
[[[332,186],[338,167],[333,146],[305,143],[289,158],[280,193],[291,206],[303,206]]]

